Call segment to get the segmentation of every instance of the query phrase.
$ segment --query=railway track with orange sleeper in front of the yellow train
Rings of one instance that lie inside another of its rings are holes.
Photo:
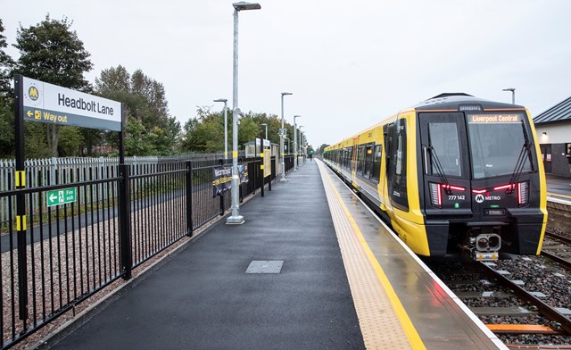
[[[550,287],[542,289],[544,293],[541,293],[534,290],[537,287],[532,281],[517,280],[525,279],[521,277],[521,271],[526,270],[530,279],[559,279],[553,276],[550,266],[543,266],[545,258],[518,259],[521,259],[520,264],[524,262],[524,268],[514,263],[512,269],[509,267],[511,262],[457,262],[443,269],[431,264],[431,268],[507,346],[568,346],[571,344],[571,319],[561,311],[565,308],[553,305],[559,303],[557,296],[547,296]],[[535,268],[526,269],[525,266]],[[543,278],[535,269],[545,269],[549,278]],[[567,279],[565,283],[568,283]],[[567,301],[560,303],[567,304]]]

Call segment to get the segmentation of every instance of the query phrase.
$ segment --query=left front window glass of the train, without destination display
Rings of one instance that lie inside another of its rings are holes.
[[[442,167],[444,175],[462,176],[460,148],[458,139],[458,126],[455,122],[428,123],[430,146],[434,150],[434,157]],[[436,162],[432,162],[432,173],[435,174]]]

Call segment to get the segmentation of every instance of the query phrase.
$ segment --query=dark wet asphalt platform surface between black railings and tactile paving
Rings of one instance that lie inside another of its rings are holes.
[[[219,221],[55,349],[361,349],[315,162]],[[280,273],[246,273],[283,261]]]

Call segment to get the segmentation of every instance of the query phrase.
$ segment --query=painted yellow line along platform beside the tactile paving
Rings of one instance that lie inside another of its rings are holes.
[[[378,263],[375,254],[373,254],[373,252],[371,251],[371,248],[368,246],[365,237],[363,237],[363,234],[361,233],[359,227],[357,226],[357,222],[355,222],[355,220],[351,215],[351,212],[349,212],[349,209],[347,209],[347,206],[343,203],[343,198],[341,198],[341,195],[339,195],[337,188],[335,188],[335,186],[333,185],[333,182],[331,181],[329,174],[327,174],[327,172],[324,172],[324,174],[327,176],[327,180],[329,181],[329,184],[333,188],[335,196],[337,197],[339,203],[341,204],[341,207],[343,208],[343,212],[345,212],[345,215],[347,215],[347,219],[349,220],[349,222],[351,222],[353,231],[357,235],[357,238],[359,238],[360,245],[363,247],[365,253],[367,254],[368,261],[373,266],[375,272],[377,272],[377,277],[381,281],[383,287],[385,288],[386,295],[389,297],[391,304],[393,304],[394,312],[399,318],[399,321],[401,321],[402,329],[404,329],[404,332],[406,333],[407,337],[409,337],[410,346],[412,346],[414,349],[426,349],[426,346],[424,345],[422,339],[418,335],[417,329],[414,328],[412,321],[410,321],[409,314],[406,312],[406,310],[404,310],[404,307],[401,304],[401,299],[399,299],[399,297],[394,292],[391,282],[385,275],[385,271],[383,271],[383,268]]]

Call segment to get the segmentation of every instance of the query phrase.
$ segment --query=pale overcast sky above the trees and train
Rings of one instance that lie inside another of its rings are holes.
[[[271,0],[240,12],[243,111],[294,115],[310,144],[332,144],[443,92],[516,103],[537,115],[571,96],[569,0]],[[4,35],[67,16],[103,69],[160,81],[181,125],[232,101],[231,1],[2,1]],[[13,47],[7,50],[17,58]]]

